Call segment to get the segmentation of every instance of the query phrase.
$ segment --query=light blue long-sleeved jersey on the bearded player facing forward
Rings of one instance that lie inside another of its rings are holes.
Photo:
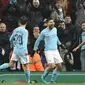
[[[34,50],[38,49],[38,45],[42,39],[44,39],[45,41],[45,51],[56,50],[58,48],[58,45],[61,45],[61,42],[59,41],[59,38],[57,37],[57,29],[55,27],[51,30],[49,30],[48,28],[45,28],[41,32],[40,36],[35,42]]]

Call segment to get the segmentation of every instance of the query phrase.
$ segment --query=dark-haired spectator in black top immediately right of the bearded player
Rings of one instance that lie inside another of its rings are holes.
[[[59,37],[59,40],[61,41],[61,43],[65,44],[66,43],[66,26],[65,26],[65,22],[64,21],[61,21],[60,24],[59,24],[59,27],[57,28],[57,33],[58,33],[58,37]],[[65,52],[64,52],[64,49],[62,49],[61,47],[59,47],[59,51],[60,51],[60,55],[64,61],[64,56],[65,56]],[[63,62],[62,63],[62,71],[66,71],[66,68],[65,68],[65,63]]]

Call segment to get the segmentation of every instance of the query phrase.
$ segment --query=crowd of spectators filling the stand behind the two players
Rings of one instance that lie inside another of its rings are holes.
[[[40,32],[47,26],[46,19],[51,17],[55,20],[60,41],[68,50],[68,53],[65,53],[59,47],[64,61],[62,71],[85,71],[85,56],[82,53],[85,45],[83,49],[73,51],[85,40],[85,0],[0,0],[0,64],[9,62],[11,58],[9,38],[23,15],[28,18],[26,29],[29,33],[29,55]],[[44,41],[41,41],[38,54],[30,56],[29,67],[30,71],[44,71],[46,66]],[[17,62],[10,70],[22,69],[24,66]]]

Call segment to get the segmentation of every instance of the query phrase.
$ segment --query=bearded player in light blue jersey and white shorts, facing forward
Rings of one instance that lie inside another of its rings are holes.
[[[48,63],[48,67],[45,69],[44,74],[42,75],[42,82],[47,83],[46,77],[49,72],[53,70],[50,83],[54,83],[57,76],[59,75],[59,72],[61,71],[61,63],[63,62],[58,51],[58,45],[63,48],[65,47],[61,44],[57,37],[57,29],[54,27],[54,20],[52,18],[48,18],[46,23],[47,27],[43,31],[41,31],[38,39],[35,42],[34,52],[38,50],[38,45],[40,41],[44,39],[45,56]]]

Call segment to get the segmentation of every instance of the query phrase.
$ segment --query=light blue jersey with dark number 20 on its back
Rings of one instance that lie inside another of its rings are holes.
[[[19,55],[27,53],[28,31],[23,27],[17,27],[10,37],[10,42],[14,48],[13,52]]]

